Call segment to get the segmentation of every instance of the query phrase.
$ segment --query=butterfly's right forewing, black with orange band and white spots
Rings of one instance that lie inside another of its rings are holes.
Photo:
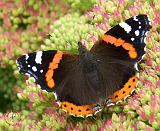
[[[145,38],[150,28],[147,15],[131,17],[107,31],[91,52],[137,62],[145,54]]]

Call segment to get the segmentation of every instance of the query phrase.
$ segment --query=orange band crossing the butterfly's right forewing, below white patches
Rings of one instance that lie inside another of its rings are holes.
[[[115,38],[113,36],[110,36],[110,35],[103,35],[102,40],[104,40],[107,43],[111,43],[116,47],[122,46],[125,50],[128,51],[128,54],[129,54],[130,58],[135,59],[138,55],[135,48],[133,47],[133,45],[130,44],[130,43],[126,43],[121,38],[117,39],[117,38]]]

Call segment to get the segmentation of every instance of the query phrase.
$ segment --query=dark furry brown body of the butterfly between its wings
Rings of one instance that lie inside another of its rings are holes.
[[[79,42],[79,65],[85,74],[85,78],[94,90],[100,90],[101,74],[98,71],[98,60],[90,51]]]

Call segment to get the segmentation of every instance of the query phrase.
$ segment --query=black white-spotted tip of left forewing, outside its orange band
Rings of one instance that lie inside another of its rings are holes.
[[[46,74],[56,54],[56,50],[38,51],[23,55],[16,62],[21,73],[33,77],[42,89],[53,91],[47,84]]]

